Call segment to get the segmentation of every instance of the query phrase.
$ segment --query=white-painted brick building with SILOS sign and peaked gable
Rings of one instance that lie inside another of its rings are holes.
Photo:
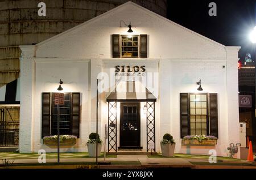
[[[122,21],[131,22],[134,32],[128,33]],[[133,72],[129,75],[145,75],[147,79],[154,73],[154,88],[148,83],[144,85],[156,99],[138,98],[138,92],[137,99],[133,99],[134,93],[113,93],[115,99],[109,99],[112,92],[107,91],[109,89],[100,93],[100,136],[104,138],[105,124],[111,124],[109,130],[117,133],[113,136],[116,143],[109,138],[111,151],[118,151],[118,147],[147,151],[147,145],[154,143],[155,151],[160,152],[160,140],[166,133],[174,136],[176,153],[208,154],[209,149],[216,149],[218,155],[226,156],[229,144],[239,143],[237,61],[240,47],[218,44],[128,2],[60,35],[34,46],[20,46],[20,49],[20,152],[56,151],[42,140],[42,136],[56,134],[54,105],[49,101],[48,114],[42,105],[45,105],[43,100],[58,92],[59,79],[64,82],[62,87],[67,98],[80,95],[78,120],[71,108],[66,112],[70,113],[68,118],[63,115],[67,123],[61,126],[63,134],[77,135],[79,139],[75,146],[61,151],[87,151],[88,136],[96,131],[96,79],[101,77],[101,72],[110,77],[112,70],[120,70],[114,74],[120,76],[122,66],[125,72],[129,72],[127,66],[130,66]],[[197,91],[196,82],[200,79],[203,91]],[[130,84],[136,86],[136,83]],[[109,122],[108,101],[110,104],[117,101],[117,119],[113,123]],[[70,104],[72,102],[73,98]],[[144,114],[146,104],[148,107],[155,104],[154,121],[147,119],[149,112]],[[124,113],[125,110],[128,112]],[[131,124],[137,130],[122,132],[128,128],[124,126],[132,116],[135,120]],[[148,120],[155,126],[147,126]],[[127,133],[135,133],[130,136],[132,141],[125,138],[129,136]],[[218,136],[217,144],[184,145],[183,136],[193,134]]]

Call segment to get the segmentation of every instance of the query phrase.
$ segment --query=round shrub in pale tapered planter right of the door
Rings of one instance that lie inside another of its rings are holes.
[[[173,157],[174,156],[174,149],[175,149],[175,142],[174,138],[170,134],[165,134],[163,136],[163,140],[160,142],[162,156],[163,157]]]

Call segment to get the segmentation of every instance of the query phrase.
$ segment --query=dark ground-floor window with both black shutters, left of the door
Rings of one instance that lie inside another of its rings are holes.
[[[58,108],[54,104],[55,93],[42,95],[42,138],[57,135]],[[60,135],[80,134],[80,93],[64,93],[64,105],[60,105]]]

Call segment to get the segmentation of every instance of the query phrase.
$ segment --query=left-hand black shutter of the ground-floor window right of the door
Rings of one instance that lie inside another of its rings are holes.
[[[180,136],[190,135],[189,130],[189,93],[180,93]]]

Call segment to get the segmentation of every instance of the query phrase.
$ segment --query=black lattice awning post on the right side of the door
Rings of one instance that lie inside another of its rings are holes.
[[[147,152],[153,143],[155,152],[155,102],[147,102]]]

